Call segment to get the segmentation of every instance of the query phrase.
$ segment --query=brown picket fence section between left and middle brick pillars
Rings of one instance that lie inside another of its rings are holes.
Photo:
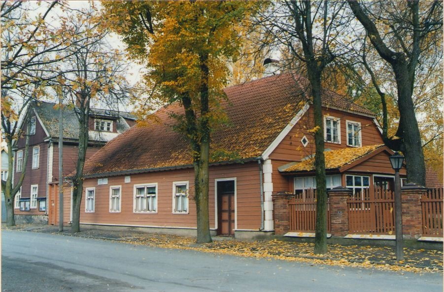
[[[316,190],[296,194],[290,203],[290,231],[314,233],[316,227]],[[327,232],[331,231],[330,204],[327,202]]]

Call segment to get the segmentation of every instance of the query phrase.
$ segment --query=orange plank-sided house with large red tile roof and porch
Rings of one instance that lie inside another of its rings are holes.
[[[272,194],[315,187],[312,168],[299,167],[315,146],[313,108],[297,78],[287,73],[225,89],[229,122],[211,136],[213,234],[272,234]],[[187,141],[172,130],[171,113],[182,112],[177,104],[158,110],[157,120],[131,128],[86,162],[81,224],[195,233],[192,157]],[[391,187],[393,152],[381,146],[375,114],[328,90],[323,114],[325,148],[331,150],[327,187]]]

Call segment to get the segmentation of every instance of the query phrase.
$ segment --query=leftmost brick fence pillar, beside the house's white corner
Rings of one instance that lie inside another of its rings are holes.
[[[273,197],[274,234],[282,235],[290,230],[290,206],[289,203],[294,194],[278,192]]]

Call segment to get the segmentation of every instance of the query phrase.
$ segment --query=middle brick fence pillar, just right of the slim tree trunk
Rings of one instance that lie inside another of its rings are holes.
[[[347,199],[353,191],[343,186],[337,186],[327,191],[330,199],[331,233],[333,236],[348,234],[348,207]]]

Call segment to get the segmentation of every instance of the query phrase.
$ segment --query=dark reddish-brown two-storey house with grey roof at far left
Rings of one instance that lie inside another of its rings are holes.
[[[59,110],[55,104],[33,103],[27,112],[31,115],[31,136],[26,175],[21,190],[14,202],[17,222],[54,223],[57,202],[49,201],[51,189],[59,183]],[[126,112],[91,109],[89,117],[89,146],[87,158],[106,142],[117,137],[135,123],[135,117]],[[63,173],[68,175],[75,169],[78,151],[78,120],[74,110],[63,111]],[[22,130],[26,133],[26,124]],[[14,145],[14,180],[17,183],[22,171],[25,137]],[[48,206],[49,205],[49,206]]]

